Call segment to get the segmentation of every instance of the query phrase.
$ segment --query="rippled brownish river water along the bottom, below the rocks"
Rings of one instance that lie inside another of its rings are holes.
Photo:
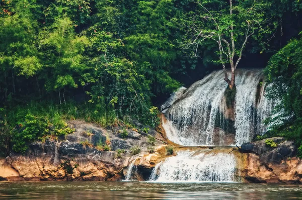
[[[3,181],[0,182],[0,199],[302,199],[302,185]]]

